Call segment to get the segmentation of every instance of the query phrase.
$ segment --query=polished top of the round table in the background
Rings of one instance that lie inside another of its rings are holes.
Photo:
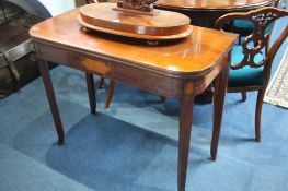
[[[168,8],[193,10],[246,10],[273,4],[275,0],[158,0],[157,4]]]

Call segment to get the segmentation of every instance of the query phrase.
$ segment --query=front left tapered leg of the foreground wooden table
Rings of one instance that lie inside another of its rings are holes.
[[[51,110],[54,123],[56,127],[56,131],[58,134],[58,144],[60,145],[60,144],[64,144],[65,133],[64,133],[64,128],[62,128],[62,122],[61,122],[61,118],[59,115],[59,110],[57,107],[55,93],[53,89],[53,83],[51,83],[51,79],[49,75],[49,70],[48,70],[46,61],[44,61],[42,59],[38,59],[38,67],[39,67],[41,75],[43,79],[44,87],[46,91],[46,95],[48,98],[48,103],[50,106],[50,110]]]

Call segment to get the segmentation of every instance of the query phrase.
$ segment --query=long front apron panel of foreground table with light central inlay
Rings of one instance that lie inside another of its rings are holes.
[[[43,44],[36,44],[35,46],[37,47],[38,55],[45,60],[58,62],[89,73],[95,73],[116,82],[129,84],[160,95],[170,97],[182,96],[182,80],[163,76],[150,70],[145,71],[130,68],[117,60],[103,59],[94,56],[88,57],[88,55],[81,51],[73,51],[61,47],[50,47]]]

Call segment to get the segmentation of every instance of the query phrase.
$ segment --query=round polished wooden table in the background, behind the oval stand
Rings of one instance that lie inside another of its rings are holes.
[[[247,12],[273,5],[275,0],[158,0],[155,8],[177,11],[191,17],[192,24],[212,27],[222,15]]]

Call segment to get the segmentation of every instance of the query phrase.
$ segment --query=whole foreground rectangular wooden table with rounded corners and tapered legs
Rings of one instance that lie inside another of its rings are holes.
[[[215,160],[223,102],[228,82],[230,50],[235,34],[193,26],[193,34],[182,40],[150,47],[142,40],[103,33],[85,34],[77,21],[79,10],[46,20],[30,31],[38,56],[38,65],[58,133],[65,132],[46,61],[84,71],[91,112],[95,114],[93,74],[180,100],[178,190],[185,190],[189,154],[194,96],[215,83],[214,134],[211,158]]]

